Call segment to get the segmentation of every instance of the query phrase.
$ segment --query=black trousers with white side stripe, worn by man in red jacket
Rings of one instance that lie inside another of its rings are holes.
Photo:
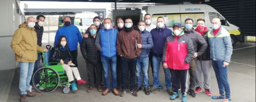
[[[172,79],[172,87],[174,92],[178,92],[180,88],[181,82],[181,93],[182,95],[187,95],[187,77],[188,77],[188,69],[187,70],[173,70],[171,69],[171,79]]]

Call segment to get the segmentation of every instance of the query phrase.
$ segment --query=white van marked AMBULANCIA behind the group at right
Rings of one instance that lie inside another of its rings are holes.
[[[197,19],[205,18],[207,28],[211,30],[212,19],[220,18],[221,26],[230,33],[232,45],[234,46],[236,42],[242,40],[240,29],[229,23],[218,11],[207,4],[156,5],[143,7],[142,12],[151,14],[154,25],[156,25],[156,19],[162,16],[165,18],[167,28],[170,29],[172,29],[174,23],[180,23],[184,27],[184,21],[187,18],[194,20],[193,26],[196,28]],[[144,15],[141,17],[144,17]]]

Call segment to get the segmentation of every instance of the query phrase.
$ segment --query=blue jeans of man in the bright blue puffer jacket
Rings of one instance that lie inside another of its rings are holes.
[[[105,81],[105,86],[106,89],[110,89],[109,87],[109,67],[111,70],[111,75],[112,75],[112,89],[116,89],[116,56],[112,57],[104,57],[101,56],[101,62],[103,65],[103,74],[104,74],[104,81]]]

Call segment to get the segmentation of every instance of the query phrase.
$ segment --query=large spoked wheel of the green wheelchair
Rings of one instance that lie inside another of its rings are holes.
[[[54,91],[59,84],[59,74],[52,68],[42,67],[36,70],[33,75],[34,88],[41,93],[50,93]]]

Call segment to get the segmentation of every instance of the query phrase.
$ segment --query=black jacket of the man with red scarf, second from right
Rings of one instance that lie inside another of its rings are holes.
[[[198,56],[198,57],[197,57],[198,60],[211,60],[211,57],[210,57],[210,47],[209,47],[209,40],[208,40],[208,36],[207,36],[207,35],[208,35],[208,32],[209,32],[209,31],[207,31],[207,32],[205,32],[205,33],[203,34],[203,38],[206,40],[206,42],[207,42],[207,44],[208,44],[207,49],[206,49],[206,51],[202,54],[202,56]],[[202,47],[201,45],[198,45],[197,51],[200,50],[201,47]]]

